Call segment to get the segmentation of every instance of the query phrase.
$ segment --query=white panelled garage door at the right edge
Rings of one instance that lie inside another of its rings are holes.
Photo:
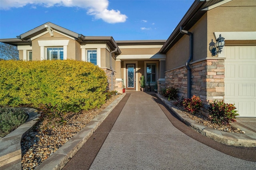
[[[256,46],[226,46],[225,103],[240,117],[256,117]]]

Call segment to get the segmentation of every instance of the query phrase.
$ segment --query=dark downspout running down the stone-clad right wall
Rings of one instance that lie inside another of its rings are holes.
[[[180,33],[189,36],[189,58],[188,61],[186,62],[186,69],[188,70],[188,98],[191,98],[191,68],[189,67],[189,63],[193,58],[193,34],[192,32],[183,30],[182,27],[180,27]]]

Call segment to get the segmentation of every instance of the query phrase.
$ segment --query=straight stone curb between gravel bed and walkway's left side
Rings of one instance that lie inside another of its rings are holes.
[[[106,119],[114,107],[124,98],[122,94],[97,115],[90,123],[62,145],[56,152],[50,155],[44,162],[36,167],[36,170],[60,170],[72,158],[83,144],[90,138],[94,131]]]

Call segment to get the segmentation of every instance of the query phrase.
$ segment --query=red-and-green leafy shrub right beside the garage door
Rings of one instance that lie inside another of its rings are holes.
[[[236,113],[236,107],[234,104],[224,103],[224,101],[213,101],[209,103],[209,119],[213,123],[217,124],[229,124],[230,122],[235,122],[236,116],[239,114]]]

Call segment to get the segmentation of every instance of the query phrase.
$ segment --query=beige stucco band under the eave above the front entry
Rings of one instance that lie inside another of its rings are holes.
[[[156,54],[161,48],[122,48],[122,55]]]

